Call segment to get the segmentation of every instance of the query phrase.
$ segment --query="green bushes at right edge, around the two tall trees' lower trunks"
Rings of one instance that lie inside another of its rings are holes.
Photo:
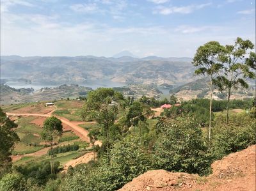
[[[256,144],[255,119],[250,118],[250,114],[230,115],[228,125],[225,123],[225,116],[220,115],[212,130],[216,159]]]

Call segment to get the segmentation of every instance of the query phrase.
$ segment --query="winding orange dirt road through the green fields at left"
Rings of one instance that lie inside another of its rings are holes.
[[[45,118],[49,118],[52,115],[52,112],[49,112],[47,114],[33,114],[33,113],[14,113],[14,112],[6,112],[6,115],[9,116],[40,116],[40,117],[45,117]],[[55,115],[54,115],[55,116]],[[79,124],[83,124],[86,122],[80,122],[80,121],[74,121],[74,123],[72,121],[69,121],[66,118],[60,117],[60,116],[56,116],[56,118],[60,119],[62,123],[70,126],[70,128],[74,131],[74,133],[76,135],[78,135],[83,141],[86,142],[90,142],[90,138],[88,137],[88,131],[85,130],[84,128],[82,128],[81,126],[78,126]],[[92,124],[95,122],[88,122],[88,124]],[[101,141],[97,141],[95,142],[95,144],[99,144],[99,146],[101,146],[102,142]],[[36,151],[35,153],[29,153],[23,156],[28,156],[28,157],[40,157],[42,155],[45,155],[47,153],[47,151],[50,148],[43,148],[40,149],[39,151]],[[12,157],[12,160],[19,160],[20,158],[22,158],[21,155],[16,155]],[[65,169],[68,168],[68,166],[72,165],[73,167],[77,164],[82,164],[82,163],[86,163],[89,162],[90,160],[93,159],[93,152],[90,153],[86,153],[85,155],[83,155],[82,157],[76,158],[74,160],[70,160],[67,162],[67,164],[64,165]]]

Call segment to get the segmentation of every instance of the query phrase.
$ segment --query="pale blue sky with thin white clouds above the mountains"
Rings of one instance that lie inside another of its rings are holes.
[[[255,43],[255,0],[1,0],[1,56],[193,57]]]

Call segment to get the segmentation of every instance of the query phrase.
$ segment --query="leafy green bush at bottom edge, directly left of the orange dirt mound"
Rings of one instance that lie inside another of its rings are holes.
[[[65,178],[65,190],[117,190],[151,168],[150,157],[136,137],[117,142],[110,152],[92,166],[77,165]]]

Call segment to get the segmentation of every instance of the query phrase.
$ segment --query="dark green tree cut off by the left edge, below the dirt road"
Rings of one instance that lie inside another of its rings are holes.
[[[13,128],[16,128],[17,124],[11,121],[0,107],[0,177],[11,167],[12,150],[14,143],[19,141],[19,137]]]

